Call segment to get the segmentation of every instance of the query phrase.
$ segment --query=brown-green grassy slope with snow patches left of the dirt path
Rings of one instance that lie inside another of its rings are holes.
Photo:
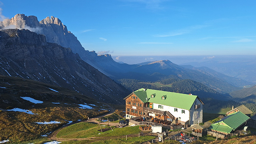
[[[0,141],[7,140],[11,143],[21,143],[22,141],[41,139],[57,127],[65,125],[69,121],[87,119],[102,115],[108,107],[98,103],[94,99],[80,95],[77,92],[22,78],[0,76]],[[50,90],[55,89],[59,92]],[[34,104],[20,97],[31,97],[43,101]],[[52,102],[59,102],[54,104]],[[81,109],[77,104],[95,104],[93,109]],[[65,104],[68,103],[68,104]],[[100,107],[101,106],[101,107]],[[32,111],[34,115],[24,112],[4,111],[18,107]],[[61,124],[39,125],[35,122],[59,121]]]

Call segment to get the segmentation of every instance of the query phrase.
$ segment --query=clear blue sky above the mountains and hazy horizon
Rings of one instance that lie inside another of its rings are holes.
[[[256,55],[254,0],[0,0],[0,18],[58,17],[83,47],[122,56]]]

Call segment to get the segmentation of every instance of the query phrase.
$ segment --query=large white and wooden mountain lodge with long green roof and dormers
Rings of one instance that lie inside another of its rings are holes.
[[[203,121],[204,103],[195,95],[141,88],[124,100],[127,119],[153,117],[185,127]]]

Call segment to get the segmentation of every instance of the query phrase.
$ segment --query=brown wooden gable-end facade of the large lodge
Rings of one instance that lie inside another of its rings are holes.
[[[144,103],[134,93],[126,98],[125,103],[126,115],[133,117],[143,116]]]

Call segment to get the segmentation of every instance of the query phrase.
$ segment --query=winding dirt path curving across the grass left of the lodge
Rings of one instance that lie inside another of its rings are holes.
[[[54,130],[51,134],[48,135],[48,139],[50,140],[58,140],[58,141],[71,141],[71,140],[88,140],[88,139],[95,139],[96,137],[93,137],[93,138],[82,138],[82,139],[61,139],[61,138],[57,138],[57,133],[63,129],[63,128],[66,128],[70,125],[73,125],[73,124],[76,124],[76,123],[81,123],[81,122],[90,122],[90,123],[99,123],[97,121],[97,118],[100,118],[100,117],[104,117],[104,116],[108,116],[108,115],[111,115],[115,112],[115,110],[113,109],[113,107],[111,107],[110,105],[106,104],[106,106],[108,106],[110,108],[110,111],[104,115],[100,115],[100,116],[96,116],[96,117],[93,117],[93,118],[90,118],[89,120],[81,120],[81,121],[74,121],[68,125],[63,125],[61,126],[60,128]],[[107,125],[108,123],[101,123],[101,124],[104,124],[104,125]],[[119,126],[119,123],[110,123],[111,126]],[[98,137],[97,137],[98,139]]]

